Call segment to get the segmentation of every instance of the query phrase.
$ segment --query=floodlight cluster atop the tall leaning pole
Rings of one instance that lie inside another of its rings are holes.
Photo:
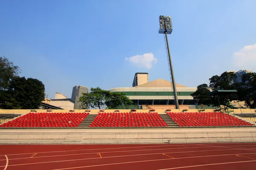
[[[160,15],[159,16],[159,34],[165,34],[165,32],[167,32],[167,34],[171,34],[172,33],[172,18],[170,16],[163,16]]]

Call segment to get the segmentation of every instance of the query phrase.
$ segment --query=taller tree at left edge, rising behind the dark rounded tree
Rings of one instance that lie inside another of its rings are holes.
[[[0,57],[0,90],[7,89],[11,80],[19,73],[20,68],[18,66],[13,65],[13,62],[6,57]]]

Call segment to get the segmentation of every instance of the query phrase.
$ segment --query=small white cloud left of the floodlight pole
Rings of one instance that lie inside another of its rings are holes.
[[[154,58],[153,53],[145,53],[143,55],[126,57],[125,60],[131,62],[137,67],[145,68],[151,68],[153,64],[157,63],[157,58]]]

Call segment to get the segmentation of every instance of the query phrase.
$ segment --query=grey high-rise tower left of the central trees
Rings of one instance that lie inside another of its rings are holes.
[[[79,98],[83,95],[83,93],[88,93],[88,88],[76,85],[73,87],[71,99],[75,101],[74,109],[81,109],[81,102],[79,102]]]

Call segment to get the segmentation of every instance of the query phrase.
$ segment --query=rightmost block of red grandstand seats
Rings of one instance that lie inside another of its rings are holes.
[[[220,112],[209,113],[171,113],[167,114],[179,126],[248,126],[252,125],[241,119]]]

